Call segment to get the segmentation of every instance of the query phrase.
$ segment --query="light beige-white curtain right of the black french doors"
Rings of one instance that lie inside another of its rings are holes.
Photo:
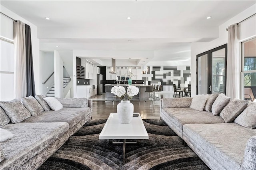
[[[237,23],[228,27],[226,96],[231,99],[240,98],[240,55]]]

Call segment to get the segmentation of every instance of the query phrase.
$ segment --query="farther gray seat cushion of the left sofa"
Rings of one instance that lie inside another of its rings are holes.
[[[66,122],[70,128],[76,125],[91,113],[89,107],[82,108],[63,108],[58,111],[42,112],[37,116],[32,116],[23,122]]]

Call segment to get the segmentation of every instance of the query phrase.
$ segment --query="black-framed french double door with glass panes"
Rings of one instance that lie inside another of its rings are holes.
[[[227,44],[196,55],[196,94],[226,92]]]

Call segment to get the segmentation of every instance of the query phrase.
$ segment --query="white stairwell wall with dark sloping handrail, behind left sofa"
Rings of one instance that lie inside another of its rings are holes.
[[[54,53],[40,51],[40,94],[46,94],[54,84],[54,75],[43,84],[44,81],[54,72]]]

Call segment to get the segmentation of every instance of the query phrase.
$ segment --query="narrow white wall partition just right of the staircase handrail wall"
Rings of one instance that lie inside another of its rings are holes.
[[[58,51],[54,50],[54,92],[55,97],[63,98],[63,61]]]

